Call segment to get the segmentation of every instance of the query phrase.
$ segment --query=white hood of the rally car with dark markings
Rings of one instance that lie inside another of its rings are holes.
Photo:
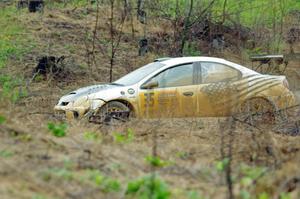
[[[116,87],[122,87],[119,85],[113,85],[113,84],[99,84],[99,85],[93,85],[93,86],[87,86],[83,88],[79,88],[75,91],[72,91],[68,93],[67,95],[64,95],[63,97],[60,98],[59,104],[62,102],[72,102],[80,97],[83,96],[89,96],[95,93],[99,93],[101,91],[106,91],[108,89],[116,88]]]

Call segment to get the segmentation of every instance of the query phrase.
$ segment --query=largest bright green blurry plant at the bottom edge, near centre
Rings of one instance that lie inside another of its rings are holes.
[[[159,177],[146,176],[129,182],[126,195],[139,199],[168,199],[171,192]]]

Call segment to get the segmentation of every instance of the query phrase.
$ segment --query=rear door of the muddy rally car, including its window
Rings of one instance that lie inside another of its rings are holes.
[[[199,116],[227,116],[239,104],[241,72],[216,62],[201,62]]]

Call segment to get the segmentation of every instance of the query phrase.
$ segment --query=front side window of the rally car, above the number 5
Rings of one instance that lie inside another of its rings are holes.
[[[193,85],[193,64],[167,69],[149,81],[157,81],[158,88]]]

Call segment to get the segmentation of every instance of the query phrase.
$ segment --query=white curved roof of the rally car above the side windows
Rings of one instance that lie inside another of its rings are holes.
[[[217,63],[231,66],[231,67],[241,71],[244,74],[258,74],[257,72],[255,72],[247,67],[244,67],[239,64],[227,61],[222,58],[217,58],[217,57],[176,57],[176,58],[161,59],[161,61],[159,61],[159,62],[165,64],[168,67],[168,66],[185,64],[185,63],[190,63],[190,62],[198,62],[198,61],[217,62]]]

